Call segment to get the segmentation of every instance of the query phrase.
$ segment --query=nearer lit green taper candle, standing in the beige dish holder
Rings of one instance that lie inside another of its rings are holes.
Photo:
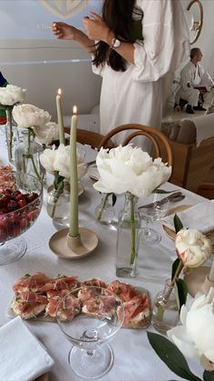
[[[69,236],[79,235],[78,226],[78,180],[77,180],[77,161],[76,161],[76,128],[77,128],[77,108],[73,106],[73,116],[70,132],[70,228]]]

